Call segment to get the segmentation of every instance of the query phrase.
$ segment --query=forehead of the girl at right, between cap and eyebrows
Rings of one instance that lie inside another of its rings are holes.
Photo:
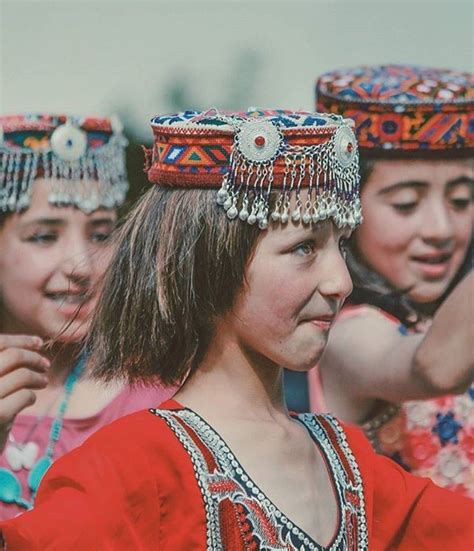
[[[395,183],[404,182],[418,182],[444,188],[459,178],[474,178],[474,160],[471,158],[384,159],[374,161],[372,166],[366,189],[370,187],[373,190],[380,190]]]

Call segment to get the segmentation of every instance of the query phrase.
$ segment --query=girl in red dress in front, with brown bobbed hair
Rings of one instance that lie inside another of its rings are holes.
[[[153,130],[157,186],[121,230],[89,347],[106,380],[184,384],[59,460],[1,524],[8,549],[466,548],[467,500],[285,405],[282,366],[317,361],[351,291],[350,121],[185,112]]]

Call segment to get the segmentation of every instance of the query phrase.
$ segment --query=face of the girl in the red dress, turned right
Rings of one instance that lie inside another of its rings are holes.
[[[263,234],[226,317],[241,349],[293,370],[314,367],[352,290],[341,252],[349,234],[329,221]]]

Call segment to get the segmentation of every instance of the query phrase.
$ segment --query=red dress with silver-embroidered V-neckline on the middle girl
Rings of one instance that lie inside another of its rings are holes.
[[[7,549],[472,549],[470,500],[406,473],[331,416],[295,419],[320,447],[338,498],[328,547],[285,517],[210,425],[169,400],[59,459],[35,509],[0,523]]]

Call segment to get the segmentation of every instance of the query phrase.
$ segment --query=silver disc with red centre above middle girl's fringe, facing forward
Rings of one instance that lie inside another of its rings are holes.
[[[236,134],[236,146],[241,155],[253,163],[275,159],[281,149],[283,136],[270,121],[248,121]]]

